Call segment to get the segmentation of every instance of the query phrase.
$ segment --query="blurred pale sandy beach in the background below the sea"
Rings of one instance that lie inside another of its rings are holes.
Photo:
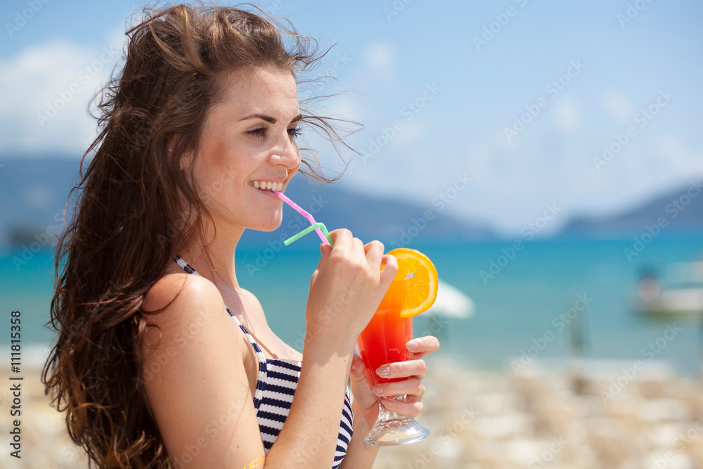
[[[703,467],[703,383],[663,362],[638,368],[632,362],[563,361],[515,373],[431,360],[418,418],[430,437],[382,449],[374,468]],[[8,450],[9,386],[0,393],[0,468],[87,468],[63,415],[49,405],[39,373],[36,365],[20,373],[21,459]],[[0,379],[11,383],[10,377]]]

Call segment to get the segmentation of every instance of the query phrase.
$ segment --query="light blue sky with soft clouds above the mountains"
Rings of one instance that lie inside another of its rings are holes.
[[[119,60],[127,17],[143,5],[0,4],[0,159],[82,153],[95,127],[86,105]],[[699,1],[259,6],[321,46],[335,44],[318,71],[338,81],[315,91],[340,95],[322,112],[364,124],[349,139],[363,156],[343,184],[428,206],[453,195],[441,210],[512,236],[547,204],[560,212],[545,232],[703,174]],[[646,117],[650,107],[656,115]],[[328,146],[307,139],[334,166]],[[609,161],[604,146],[618,150]],[[455,193],[459,176],[471,181]]]

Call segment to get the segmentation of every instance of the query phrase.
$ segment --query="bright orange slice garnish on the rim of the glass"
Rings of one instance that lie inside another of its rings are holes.
[[[396,280],[406,279],[401,318],[411,318],[427,311],[437,300],[437,269],[422,252],[408,248],[394,249],[388,254],[398,260]]]

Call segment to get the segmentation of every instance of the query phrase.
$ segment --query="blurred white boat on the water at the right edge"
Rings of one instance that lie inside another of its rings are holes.
[[[703,261],[669,264],[662,281],[651,273],[643,275],[635,309],[646,316],[703,315]]]

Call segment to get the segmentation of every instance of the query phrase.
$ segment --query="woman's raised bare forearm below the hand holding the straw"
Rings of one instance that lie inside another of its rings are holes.
[[[329,349],[329,347],[328,347]],[[323,468],[333,465],[352,352],[306,347],[295,398],[266,468]]]

